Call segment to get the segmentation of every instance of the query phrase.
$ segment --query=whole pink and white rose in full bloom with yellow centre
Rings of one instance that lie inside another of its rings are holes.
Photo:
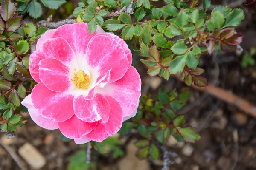
[[[141,80],[131,62],[128,45],[100,27],[93,34],[86,23],[48,30],[30,55],[38,84],[22,104],[43,128],[59,128],[77,144],[101,142],[137,113]]]

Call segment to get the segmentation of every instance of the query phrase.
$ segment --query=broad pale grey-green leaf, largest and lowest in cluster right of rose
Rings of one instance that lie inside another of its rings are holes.
[[[184,55],[177,56],[172,62],[170,63],[169,70],[171,74],[177,74],[183,71],[186,64],[186,57]]]

